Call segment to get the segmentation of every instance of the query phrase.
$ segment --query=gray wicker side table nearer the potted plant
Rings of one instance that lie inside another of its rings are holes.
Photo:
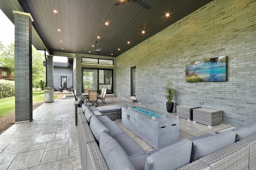
[[[182,117],[185,119],[193,120],[193,109],[201,108],[198,106],[191,106],[191,105],[181,105],[181,106],[176,106],[176,112],[177,112],[177,117]]]

